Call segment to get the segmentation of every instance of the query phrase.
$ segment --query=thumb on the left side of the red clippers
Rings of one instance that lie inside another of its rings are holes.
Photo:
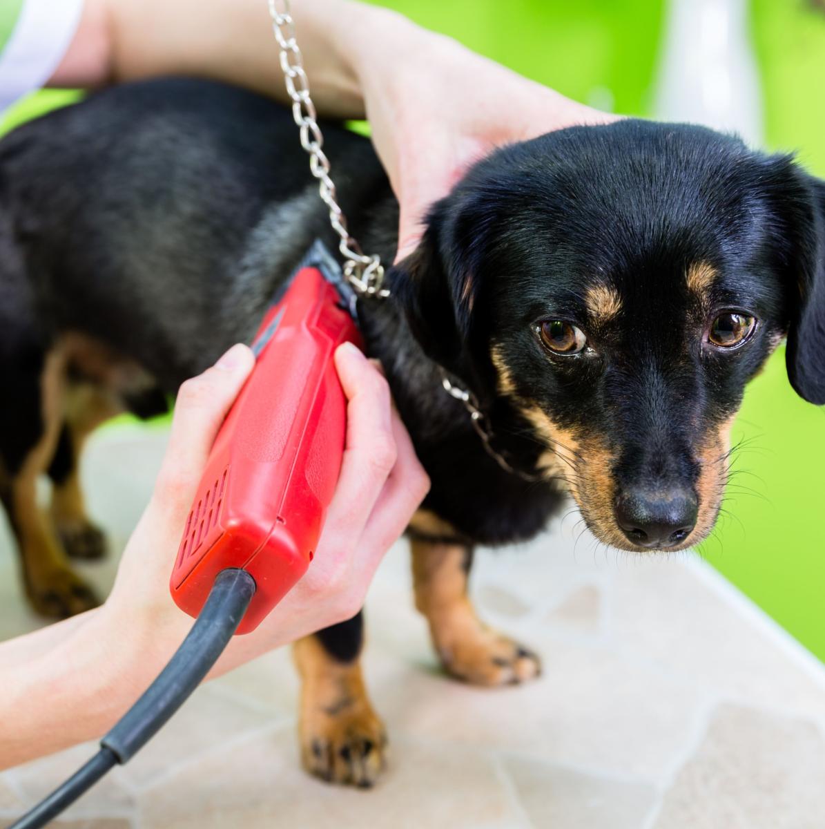
[[[252,351],[238,343],[215,366],[181,385],[155,487],[162,500],[189,508],[215,435],[254,365]]]

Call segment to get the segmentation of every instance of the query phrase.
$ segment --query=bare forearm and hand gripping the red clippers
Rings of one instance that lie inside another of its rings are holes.
[[[104,734],[191,628],[167,585],[209,448],[253,364],[246,347],[227,359],[181,389],[151,502],[106,603],[0,644],[0,768]],[[211,676],[350,618],[427,491],[386,381],[357,350],[335,361],[349,400],[347,443],[315,560],[258,630],[234,638]]]

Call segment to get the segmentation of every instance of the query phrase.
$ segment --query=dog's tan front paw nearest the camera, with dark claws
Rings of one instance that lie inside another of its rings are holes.
[[[304,768],[327,783],[374,785],[387,766],[387,735],[369,703],[352,710],[317,709],[301,723]]]

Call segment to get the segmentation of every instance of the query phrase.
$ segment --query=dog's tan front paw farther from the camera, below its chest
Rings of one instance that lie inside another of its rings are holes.
[[[472,685],[514,685],[542,672],[535,653],[481,625],[463,628],[460,635],[442,637],[437,650],[446,671]]]

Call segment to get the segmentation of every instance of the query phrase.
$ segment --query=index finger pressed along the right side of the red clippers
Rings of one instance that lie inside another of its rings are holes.
[[[397,458],[389,386],[353,345],[335,351],[347,404],[346,448],[326,531],[359,535]]]

